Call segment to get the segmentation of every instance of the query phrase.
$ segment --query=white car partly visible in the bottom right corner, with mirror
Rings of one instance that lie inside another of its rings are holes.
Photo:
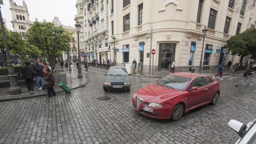
[[[256,119],[253,122],[243,124],[237,120],[230,120],[228,126],[231,127],[236,133],[239,134],[239,138],[235,144],[255,144],[256,143]]]

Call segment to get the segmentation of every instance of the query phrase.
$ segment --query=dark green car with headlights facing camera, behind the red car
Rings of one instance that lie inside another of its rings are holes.
[[[125,67],[110,67],[106,75],[103,90],[124,89],[131,91],[131,81]]]

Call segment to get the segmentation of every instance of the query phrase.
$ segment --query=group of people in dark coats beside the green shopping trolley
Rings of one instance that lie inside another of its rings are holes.
[[[30,93],[34,93],[34,77],[36,77],[36,88],[38,90],[47,89],[48,96],[55,96],[53,89],[55,80],[51,73],[51,67],[48,62],[41,63],[39,59],[36,60],[32,66],[30,62],[24,62],[25,66],[22,68],[22,74],[25,79],[26,86]]]

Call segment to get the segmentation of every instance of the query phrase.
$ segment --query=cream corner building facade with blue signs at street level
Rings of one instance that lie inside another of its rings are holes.
[[[144,71],[149,70],[151,29],[152,49],[156,50],[154,61],[151,59],[154,70],[169,71],[175,60],[176,70],[186,72],[199,66],[202,47],[203,70],[216,69],[223,61],[238,63],[239,57],[232,56],[223,46],[231,36],[254,28],[256,21],[255,1],[109,0],[108,3],[111,58],[117,65],[132,64],[136,59],[143,63]],[[203,46],[204,27],[208,32]]]

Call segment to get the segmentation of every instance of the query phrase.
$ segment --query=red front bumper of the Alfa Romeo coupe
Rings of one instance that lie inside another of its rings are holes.
[[[139,109],[137,108],[137,100],[135,100],[133,98],[133,106],[135,108],[135,110],[143,115],[146,115],[148,117],[151,118],[155,118],[155,119],[170,119],[171,118],[171,113],[172,113],[172,108],[170,106],[164,106],[161,108],[158,107],[150,107],[148,105],[144,105],[145,101],[142,102],[142,104],[140,105]],[[143,107],[148,107],[148,108],[152,108],[153,112],[149,112],[146,110],[143,110]]]

